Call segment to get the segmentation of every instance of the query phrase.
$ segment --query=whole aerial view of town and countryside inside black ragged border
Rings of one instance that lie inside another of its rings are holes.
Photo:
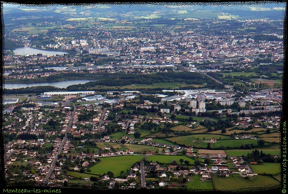
[[[281,6],[6,6],[8,187],[280,188]]]

